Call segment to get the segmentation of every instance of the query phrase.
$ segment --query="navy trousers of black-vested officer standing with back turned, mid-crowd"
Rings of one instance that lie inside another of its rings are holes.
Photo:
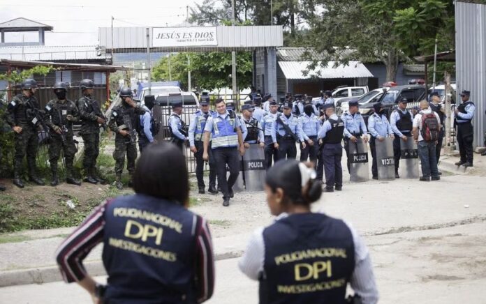
[[[343,168],[341,158],[343,157],[343,146],[341,144],[324,144],[323,162],[325,174],[325,188],[332,189],[342,187]]]

